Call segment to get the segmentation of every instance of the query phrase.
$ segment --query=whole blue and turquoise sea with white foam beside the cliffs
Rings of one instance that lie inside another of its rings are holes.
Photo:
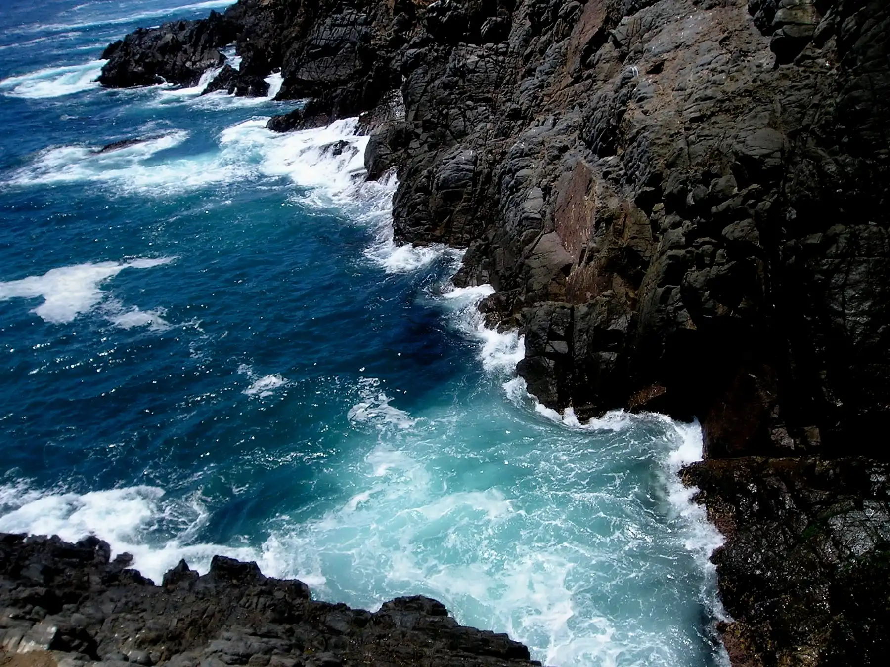
[[[353,120],[94,83],[113,39],[226,4],[0,8],[0,530],[425,593],[550,664],[723,664],[697,425],[539,406],[460,253],[392,244]]]

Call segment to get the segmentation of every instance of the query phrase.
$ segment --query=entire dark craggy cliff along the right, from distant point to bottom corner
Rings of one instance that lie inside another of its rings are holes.
[[[467,248],[543,403],[700,419],[733,662],[873,659],[886,473],[836,457],[887,458],[890,5],[240,0],[199,25],[128,36],[103,82],[234,33],[245,76],[307,99],[272,129],[364,113],[397,239]]]

